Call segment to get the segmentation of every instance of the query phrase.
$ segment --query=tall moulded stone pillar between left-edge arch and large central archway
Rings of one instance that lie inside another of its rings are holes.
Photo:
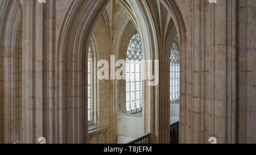
[[[25,143],[35,143],[40,136],[46,137],[47,143],[63,142],[63,122],[56,112],[55,101],[55,15],[55,1],[23,2]]]

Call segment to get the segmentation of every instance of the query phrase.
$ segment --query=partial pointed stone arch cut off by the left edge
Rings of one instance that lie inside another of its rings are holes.
[[[0,143],[22,140],[22,11],[0,2]]]

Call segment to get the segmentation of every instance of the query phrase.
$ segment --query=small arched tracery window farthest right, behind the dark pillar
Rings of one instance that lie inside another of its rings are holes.
[[[170,60],[170,101],[175,103],[180,100],[180,54],[176,43],[172,45]]]

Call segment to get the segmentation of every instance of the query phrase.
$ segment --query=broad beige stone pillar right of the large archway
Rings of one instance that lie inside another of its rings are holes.
[[[181,64],[181,70],[187,69],[187,85],[186,95],[181,95],[180,143],[208,143],[212,136],[218,143],[234,143],[236,1],[198,0],[190,5],[191,47],[181,52],[188,61]],[[181,74],[181,92],[183,81]]]

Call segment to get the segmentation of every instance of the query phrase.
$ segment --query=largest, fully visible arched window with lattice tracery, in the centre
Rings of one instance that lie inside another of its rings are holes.
[[[126,55],[126,111],[142,111],[142,43],[135,33],[131,37]]]

